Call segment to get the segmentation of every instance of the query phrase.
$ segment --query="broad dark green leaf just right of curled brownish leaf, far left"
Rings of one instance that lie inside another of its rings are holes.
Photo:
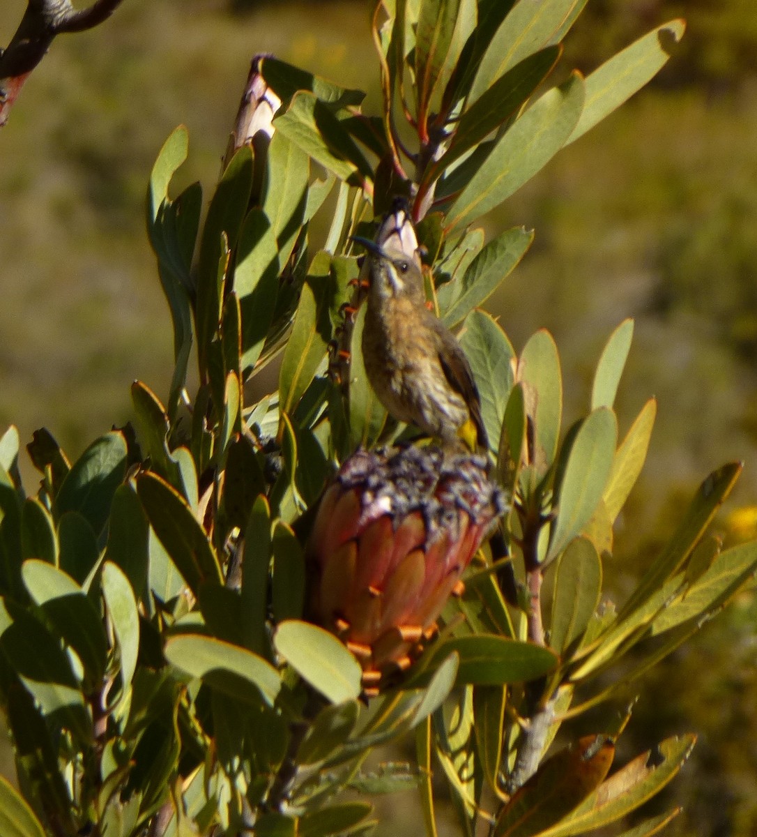
[[[57,516],[78,511],[100,534],[110,514],[110,503],[126,473],[126,442],[118,431],[90,444],[74,463],[55,498]]]

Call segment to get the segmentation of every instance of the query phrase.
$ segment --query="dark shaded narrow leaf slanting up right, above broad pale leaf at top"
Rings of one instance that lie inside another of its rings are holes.
[[[473,105],[464,110],[448,151],[429,167],[424,180],[436,180],[453,162],[477,147],[492,131],[517,113],[550,74],[560,58],[560,51],[560,47],[553,46],[530,55],[496,80]]]

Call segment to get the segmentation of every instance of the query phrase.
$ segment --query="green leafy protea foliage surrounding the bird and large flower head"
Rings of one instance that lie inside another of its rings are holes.
[[[706,535],[739,465],[704,480],[627,602],[603,601],[613,524],[655,414],[650,400],[619,438],[632,321],[606,342],[586,414],[564,427],[550,334],[517,353],[478,308],[533,234],[486,241],[472,224],[645,84],[683,33],[668,23],[555,85],[583,5],[384,0],[381,116],[362,112],[361,91],[262,59],[274,119],[233,143],[202,224],[199,184],[171,197],[187,131],[168,138],[146,218],[173,323],[166,403],[135,383],[136,429],[105,434],[73,464],[39,431],[32,495],[18,434],[0,439],[0,700],[19,782],[0,783],[4,834],[363,834],[376,824],[365,798],[406,789],[436,834],[432,775],[443,775],[463,834],[567,837],[620,821],[678,772],[692,736],[610,773],[627,713],[550,747],[757,569],[757,545],[723,550]],[[412,438],[367,383],[364,313],[349,319],[352,236],[370,234],[397,194],[429,304],[460,333],[512,504],[493,538],[504,548],[479,553],[439,637],[368,701],[350,651],[307,620],[305,543],[337,465],[359,445]],[[326,207],[314,247],[310,222]],[[276,388],[250,398],[275,357]],[[412,762],[369,766],[408,737]]]

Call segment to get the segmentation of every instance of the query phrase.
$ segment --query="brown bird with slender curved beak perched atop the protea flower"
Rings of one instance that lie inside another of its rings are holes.
[[[398,421],[415,424],[454,451],[487,452],[488,438],[468,358],[453,333],[426,306],[417,253],[402,224],[382,224],[377,244],[355,237],[368,254],[369,281],[362,352],[368,380]]]

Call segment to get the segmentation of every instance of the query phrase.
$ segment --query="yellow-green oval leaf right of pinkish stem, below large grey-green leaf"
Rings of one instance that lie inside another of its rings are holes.
[[[581,637],[599,604],[602,565],[591,541],[577,537],[560,556],[552,594],[550,647],[562,654]]]

